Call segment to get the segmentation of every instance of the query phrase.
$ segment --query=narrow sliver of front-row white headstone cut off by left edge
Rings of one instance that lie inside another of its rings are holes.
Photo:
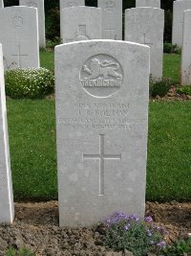
[[[2,45],[0,44],[0,223],[11,223],[14,207]]]

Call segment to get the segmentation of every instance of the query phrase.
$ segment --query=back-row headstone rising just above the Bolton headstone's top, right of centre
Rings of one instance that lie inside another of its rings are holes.
[[[102,39],[122,40],[122,0],[97,0],[102,15]]]

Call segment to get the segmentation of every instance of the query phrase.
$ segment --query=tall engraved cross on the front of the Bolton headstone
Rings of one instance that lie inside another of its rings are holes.
[[[104,195],[104,161],[105,160],[121,160],[120,154],[106,154],[104,152],[104,134],[99,134],[99,153],[85,154],[83,153],[83,160],[97,159],[99,160],[99,196]]]

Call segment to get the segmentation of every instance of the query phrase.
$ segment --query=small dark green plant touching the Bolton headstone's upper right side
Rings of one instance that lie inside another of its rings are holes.
[[[156,81],[151,77],[149,84],[149,94],[152,97],[156,97],[158,95],[159,97],[163,97],[168,93],[172,85],[173,82],[171,79],[162,78],[161,80]]]

